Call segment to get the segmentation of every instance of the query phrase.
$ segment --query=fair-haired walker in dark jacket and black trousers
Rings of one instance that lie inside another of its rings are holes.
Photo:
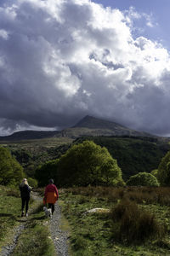
[[[30,201],[30,193],[31,193],[31,187],[28,185],[27,179],[24,178],[22,182],[20,183],[20,197],[22,200],[22,213],[21,217],[24,216],[24,208],[26,205],[26,217],[28,217],[28,204]]]

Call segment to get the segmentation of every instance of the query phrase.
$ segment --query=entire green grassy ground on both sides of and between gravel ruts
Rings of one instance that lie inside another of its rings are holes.
[[[42,201],[32,201],[29,218],[20,218],[19,191],[1,186],[0,192],[0,247],[25,221],[12,256],[54,256]],[[63,226],[70,230],[71,256],[170,255],[169,188],[59,189],[59,204]],[[100,209],[88,212],[94,208]]]

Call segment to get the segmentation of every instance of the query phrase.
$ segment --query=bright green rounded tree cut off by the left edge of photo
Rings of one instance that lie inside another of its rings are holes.
[[[0,148],[0,184],[15,185],[24,176],[23,168],[7,148]]]

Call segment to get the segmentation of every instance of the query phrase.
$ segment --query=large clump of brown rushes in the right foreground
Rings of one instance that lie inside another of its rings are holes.
[[[124,243],[140,243],[148,238],[162,238],[166,228],[156,221],[155,215],[140,210],[135,202],[122,200],[111,210],[113,236]]]

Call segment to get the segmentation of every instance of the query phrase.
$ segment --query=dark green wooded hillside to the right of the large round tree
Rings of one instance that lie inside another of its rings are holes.
[[[161,158],[170,150],[170,144],[150,137],[81,137],[75,143],[87,139],[108,149],[117,160],[125,181],[139,172],[156,169]]]

